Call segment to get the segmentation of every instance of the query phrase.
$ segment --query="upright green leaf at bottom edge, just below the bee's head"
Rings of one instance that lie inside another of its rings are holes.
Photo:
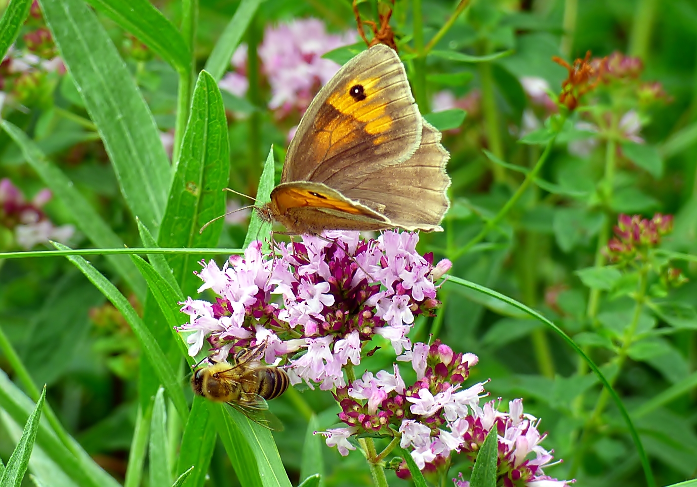
[[[194,396],[191,413],[181,437],[176,471],[184,472],[187,465],[194,465],[194,471],[185,484],[187,487],[204,486],[210,458],[213,457],[217,425],[210,414],[209,402],[201,396]]]

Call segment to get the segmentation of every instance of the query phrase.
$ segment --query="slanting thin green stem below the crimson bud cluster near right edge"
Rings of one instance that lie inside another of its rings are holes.
[[[631,346],[631,343],[634,342],[634,334],[636,334],[636,327],[638,327],[639,324],[639,319],[641,318],[641,311],[643,310],[644,303],[646,300],[646,288],[648,287],[648,266],[643,265],[641,270],[639,271],[639,284],[638,284],[638,291],[636,293],[636,304],[634,304],[634,312],[631,316],[631,321],[629,322],[629,326],[625,329],[625,334],[622,337],[622,345],[620,346],[620,350],[618,350],[617,357],[615,357],[615,364],[617,366],[617,371],[615,374],[608,379],[609,386],[613,387],[615,384],[615,380],[617,380],[618,376],[620,375],[620,371],[622,370],[622,366],[625,364],[625,360],[627,360],[627,353],[629,352],[629,347]],[[604,387],[603,390],[600,392],[597,402],[595,403],[595,408],[593,408],[593,412],[588,418],[588,420],[585,422],[585,425],[583,426],[583,435],[581,435],[581,440],[579,441],[579,445],[581,445],[576,453],[576,456],[574,458],[574,463],[572,463],[571,470],[569,470],[569,475],[571,477],[574,477],[576,472],[579,469],[579,465],[581,463],[581,457],[583,456],[585,452],[585,445],[587,444],[588,440],[590,440],[589,435],[590,431],[592,428],[595,427],[597,422],[600,419],[600,415],[602,415],[602,412],[605,410],[605,407],[608,403],[608,400],[610,399],[610,392],[608,387]]]

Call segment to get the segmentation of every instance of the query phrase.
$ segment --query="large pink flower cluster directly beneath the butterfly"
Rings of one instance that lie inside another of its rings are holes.
[[[192,356],[204,341],[214,361],[225,360],[233,347],[266,341],[269,364],[297,353],[284,359],[292,383],[345,387],[343,368],[360,364],[367,341],[378,334],[398,355],[411,350],[406,334],[414,317],[439,305],[434,281],[450,261],[434,266],[432,254],[416,252],[418,240],[408,232],[362,240],[358,232],[328,231],[280,245],[275,259],[254,242],[222,269],[201,262],[199,292],[210,288],[218,297],[183,302],[190,323],[179,330],[190,332]]]

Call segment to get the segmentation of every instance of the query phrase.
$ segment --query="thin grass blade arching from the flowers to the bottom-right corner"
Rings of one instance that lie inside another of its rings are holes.
[[[647,484],[650,486],[655,485],[654,477],[653,477],[653,472],[651,471],[651,465],[649,463],[648,456],[646,455],[646,451],[644,449],[643,444],[641,443],[641,438],[639,438],[639,433],[636,431],[636,428],[634,427],[634,423],[631,421],[631,418],[629,417],[629,413],[627,412],[627,408],[625,408],[624,403],[622,403],[622,399],[620,399],[620,396],[618,396],[617,392],[615,392],[615,389],[613,389],[612,385],[610,385],[610,382],[605,378],[603,373],[600,371],[598,366],[590,360],[590,357],[588,355],[585,355],[583,353],[583,350],[576,345],[576,342],[572,340],[569,335],[567,335],[560,327],[555,325],[554,323],[551,322],[551,320],[548,320],[542,314],[539,314],[537,311],[534,309],[527,307],[525,304],[518,302],[511,297],[505,296],[501,293],[498,293],[497,291],[493,291],[493,289],[489,289],[484,286],[480,286],[479,284],[475,284],[474,282],[467,281],[466,279],[460,279],[459,277],[454,277],[451,275],[445,275],[444,276],[447,281],[452,282],[453,284],[459,284],[459,286],[465,286],[466,288],[473,289],[474,291],[477,291],[479,293],[491,296],[499,301],[505,302],[507,304],[510,304],[513,307],[516,307],[520,309],[521,311],[525,312],[526,314],[532,316],[533,318],[542,321],[545,325],[550,327],[556,334],[558,334],[562,339],[571,347],[574,349],[574,352],[579,354],[583,360],[588,364],[590,369],[595,373],[597,378],[599,378],[600,382],[604,385],[604,387],[608,390],[610,393],[610,396],[613,399],[613,402],[617,406],[618,410],[620,410],[620,415],[622,415],[622,419],[625,420],[625,424],[627,424],[627,429],[629,430],[629,434],[631,435],[631,440],[634,442],[634,446],[636,447],[637,453],[639,455],[639,459],[641,460],[641,465],[644,470],[644,475],[646,477]]]

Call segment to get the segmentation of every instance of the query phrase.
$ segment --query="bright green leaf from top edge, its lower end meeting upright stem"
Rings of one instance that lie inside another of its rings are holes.
[[[87,0],[91,6],[146,46],[179,72],[192,69],[191,53],[184,38],[160,10],[148,0]]]

